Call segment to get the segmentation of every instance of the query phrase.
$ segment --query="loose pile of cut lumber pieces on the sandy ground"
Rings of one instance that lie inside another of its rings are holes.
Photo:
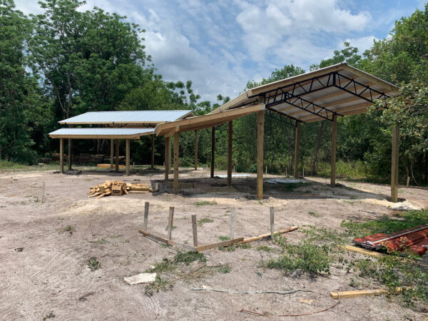
[[[89,198],[103,198],[104,196],[114,195],[121,196],[129,193],[151,193],[153,190],[150,186],[144,184],[132,184],[121,182],[120,180],[106,180],[89,188]]]

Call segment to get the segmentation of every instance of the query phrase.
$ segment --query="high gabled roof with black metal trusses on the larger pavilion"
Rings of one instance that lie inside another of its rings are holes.
[[[295,121],[330,120],[333,116],[365,113],[377,99],[394,96],[398,87],[380,78],[339,63],[255,87],[211,112],[265,102],[267,110]]]

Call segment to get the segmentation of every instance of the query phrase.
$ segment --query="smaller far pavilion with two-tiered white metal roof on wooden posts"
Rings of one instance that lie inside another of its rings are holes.
[[[141,136],[151,135],[151,167],[154,166],[155,142],[154,128],[165,122],[178,121],[193,116],[192,111],[98,111],[83,113],[78,116],[58,121],[68,128],[60,128],[49,133],[51,138],[59,139],[59,163],[63,173],[63,147],[64,139],[68,139],[68,170],[72,164],[73,139],[108,139],[110,147],[110,168],[113,169],[114,143],[116,141],[116,171],[119,170],[119,143],[126,141],[126,175],[130,174],[130,142],[131,139],[140,139]],[[86,128],[71,128],[71,126],[92,126]],[[95,127],[94,127],[95,126]]]

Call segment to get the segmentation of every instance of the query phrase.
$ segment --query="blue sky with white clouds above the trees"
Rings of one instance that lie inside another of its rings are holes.
[[[360,51],[384,39],[394,21],[424,7],[424,0],[87,0],[126,15],[146,29],[146,51],[168,81],[193,81],[202,100],[234,98],[248,80],[275,68],[332,56],[350,41]],[[25,14],[37,0],[16,0]]]

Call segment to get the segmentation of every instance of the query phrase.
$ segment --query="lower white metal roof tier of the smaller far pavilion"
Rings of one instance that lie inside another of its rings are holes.
[[[60,128],[51,138],[140,138],[154,133],[154,128]]]

